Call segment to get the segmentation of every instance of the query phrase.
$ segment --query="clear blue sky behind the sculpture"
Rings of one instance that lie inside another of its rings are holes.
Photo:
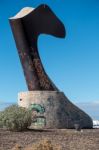
[[[50,78],[77,103],[99,101],[99,1],[2,0],[0,2],[0,101],[26,91],[8,18],[25,6],[48,4],[66,27],[65,39],[41,35],[38,47]]]

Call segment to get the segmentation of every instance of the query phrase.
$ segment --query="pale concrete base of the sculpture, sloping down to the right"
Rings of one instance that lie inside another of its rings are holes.
[[[28,91],[18,94],[18,105],[35,114],[32,128],[92,128],[92,119],[62,92]]]

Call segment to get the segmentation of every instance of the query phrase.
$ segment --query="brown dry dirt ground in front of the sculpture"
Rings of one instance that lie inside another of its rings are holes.
[[[62,150],[99,150],[99,129],[28,130],[25,132],[0,129],[0,150],[11,150],[16,144],[24,148],[43,139],[51,140],[54,145],[60,145]]]

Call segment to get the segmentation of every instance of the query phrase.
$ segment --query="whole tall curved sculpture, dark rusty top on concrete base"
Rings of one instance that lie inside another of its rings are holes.
[[[38,114],[36,125],[42,124],[46,128],[74,128],[76,123],[81,128],[92,128],[90,116],[58,90],[40,60],[38,36],[44,33],[64,38],[66,31],[62,22],[47,5],[40,5],[36,9],[22,9],[15,17],[10,18],[10,24],[29,90],[18,94],[18,105],[44,108],[43,116],[39,116],[35,109]]]

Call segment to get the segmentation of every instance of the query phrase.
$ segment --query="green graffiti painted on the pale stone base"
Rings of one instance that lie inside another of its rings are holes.
[[[32,111],[32,127],[43,128],[46,126],[46,118],[44,116],[45,108],[40,104],[31,104]]]

